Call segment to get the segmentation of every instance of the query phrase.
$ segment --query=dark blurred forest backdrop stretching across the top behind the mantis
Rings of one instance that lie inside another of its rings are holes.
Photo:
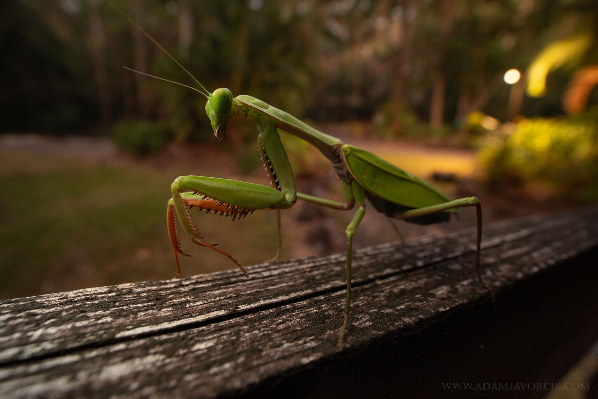
[[[478,110],[507,119],[507,69],[525,71],[550,42],[598,29],[592,0],[117,4],[209,90],[229,87],[314,121],[382,120],[393,134],[414,118],[435,128]],[[194,85],[106,1],[5,0],[3,10],[0,132],[97,132],[153,118],[179,142],[208,134],[202,96],[122,69]],[[593,41],[521,114],[562,114],[570,75],[596,63]]]

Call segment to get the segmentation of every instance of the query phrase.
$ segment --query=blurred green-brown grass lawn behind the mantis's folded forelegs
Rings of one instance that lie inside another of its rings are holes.
[[[7,151],[0,152],[0,164],[10,165],[0,173],[0,297],[175,274],[165,223],[175,174]],[[203,215],[194,218],[209,242],[222,242],[224,251],[251,264],[274,251],[274,215],[259,213],[207,227]],[[195,255],[182,258],[184,275],[234,267],[222,255],[182,241]]]

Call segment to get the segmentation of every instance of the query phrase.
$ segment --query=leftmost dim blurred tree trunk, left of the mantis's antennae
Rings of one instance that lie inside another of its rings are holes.
[[[112,120],[112,96],[106,65],[104,63],[104,50],[106,47],[106,34],[102,16],[95,2],[87,0],[87,17],[89,17],[89,33],[91,41],[91,59],[93,60],[94,75],[96,78],[97,96],[100,102],[100,120],[108,124]]]

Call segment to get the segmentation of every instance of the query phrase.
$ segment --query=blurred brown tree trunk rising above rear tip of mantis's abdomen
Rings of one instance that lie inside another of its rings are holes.
[[[430,124],[440,127],[444,116],[444,95],[446,92],[446,73],[444,69],[449,36],[453,29],[454,0],[442,0],[440,6],[440,29],[438,31],[438,48],[436,51],[436,72],[432,83],[432,100],[430,102]]]

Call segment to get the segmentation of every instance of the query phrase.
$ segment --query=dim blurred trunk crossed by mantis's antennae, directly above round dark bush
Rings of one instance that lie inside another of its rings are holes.
[[[137,20],[143,15],[143,7],[140,0],[132,0],[131,9]],[[133,67],[141,72],[148,73],[147,70],[147,48],[145,47],[145,38],[142,32],[139,32],[135,26],[131,26],[131,34],[133,36]],[[137,103],[139,107],[139,115],[148,118],[151,111],[152,94],[149,89],[148,78],[135,74],[135,82],[137,84]]]

